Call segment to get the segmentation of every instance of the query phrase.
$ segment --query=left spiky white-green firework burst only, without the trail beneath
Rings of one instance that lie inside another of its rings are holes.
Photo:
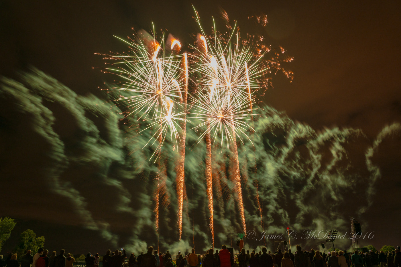
[[[182,101],[181,56],[166,54],[163,37],[158,41],[142,30],[134,40],[119,38],[129,45],[130,52],[109,57],[115,60],[114,67],[106,68],[106,71],[121,78],[114,87],[121,92],[118,100],[131,108],[126,116],[137,115],[159,122],[163,117],[167,121],[177,118],[171,116],[171,101]],[[178,44],[174,43],[175,46]],[[177,129],[172,130],[176,134]]]

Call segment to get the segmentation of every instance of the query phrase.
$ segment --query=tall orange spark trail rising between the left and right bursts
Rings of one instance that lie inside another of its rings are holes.
[[[181,101],[184,106],[184,119],[186,119],[186,100],[188,96],[188,58],[186,53],[184,53],[184,78],[185,78],[185,87],[184,92],[182,92]],[[178,159],[176,166],[176,184],[177,184],[177,196],[178,196],[178,231],[180,232],[180,239],[182,235],[182,207],[184,200],[184,179],[185,179],[185,138],[186,138],[186,121],[182,122],[182,131],[180,135],[180,146],[179,154],[180,159]]]

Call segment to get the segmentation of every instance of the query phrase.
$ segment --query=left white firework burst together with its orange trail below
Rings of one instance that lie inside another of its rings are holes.
[[[121,92],[119,101],[124,101],[130,112],[126,116],[136,116],[146,124],[145,130],[153,132],[152,145],[157,141],[158,147],[155,163],[158,167],[154,194],[155,202],[155,228],[159,229],[159,206],[161,195],[164,195],[162,205],[169,205],[169,197],[166,196],[166,168],[160,161],[162,147],[166,137],[177,143],[180,140],[179,132],[182,124],[186,124],[186,92],[187,79],[182,78],[182,56],[174,55],[174,47],[180,47],[178,40],[171,41],[171,53],[167,54],[164,49],[164,34],[160,41],[156,40],[155,34],[150,35],[144,30],[136,34],[134,40],[125,41],[129,45],[130,52],[109,56],[113,59],[113,68],[107,68],[105,72],[111,72],[121,78],[114,88]],[[184,88],[184,93],[181,91]],[[185,98],[185,107],[182,111],[181,103]],[[177,107],[174,109],[175,107]],[[175,110],[181,110],[176,112]],[[185,131],[185,130],[184,130]],[[185,139],[185,136],[184,136]],[[185,143],[185,141],[184,141]],[[183,169],[183,167],[182,167]],[[180,179],[180,185],[183,178]],[[182,186],[180,186],[181,188]],[[183,191],[181,189],[181,191]],[[182,210],[182,208],[181,208]],[[182,211],[181,211],[182,212]]]

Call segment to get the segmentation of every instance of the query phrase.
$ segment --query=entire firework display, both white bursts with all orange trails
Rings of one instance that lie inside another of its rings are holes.
[[[229,16],[225,10],[221,10],[222,17],[229,32],[221,33],[216,30],[213,20],[213,34],[207,35],[201,27],[198,12],[196,22],[201,33],[196,36],[196,45],[192,46],[193,53],[180,54],[182,44],[171,34],[165,45],[164,34],[160,40],[156,40],[155,31],[148,34],[140,30],[134,40],[125,41],[130,48],[129,53],[115,54],[105,57],[115,60],[113,68],[107,68],[105,72],[111,72],[121,78],[115,90],[121,92],[118,100],[124,101],[129,112],[124,112],[127,117],[139,118],[138,124],[145,124],[145,130],[153,132],[153,143],[158,141],[158,149],[155,150],[156,164],[159,172],[156,174],[156,192],[154,201],[156,207],[155,227],[158,233],[159,200],[165,192],[166,168],[160,162],[161,149],[164,140],[169,136],[170,140],[179,141],[179,159],[176,161],[176,185],[178,200],[178,230],[182,235],[182,213],[184,199],[184,163],[185,163],[185,139],[186,139],[186,114],[191,108],[197,125],[194,128],[204,129],[198,142],[203,137],[206,141],[206,169],[205,178],[207,185],[208,207],[210,212],[210,229],[212,234],[212,246],[214,245],[213,227],[213,185],[212,185],[212,144],[220,141],[231,147],[233,157],[233,177],[231,177],[237,196],[237,204],[243,232],[246,234],[245,213],[242,199],[241,177],[239,171],[239,157],[237,150],[237,138],[243,136],[249,139],[247,132],[253,132],[252,102],[255,102],[256,92],[261,92],[271,86],[271,74],[275,75],[280,70],[290,79],[293,73],[281,66],[282,62],[290,62],[293,58],[284,56],[284,48],[279,52],[272,50],[270,46],[263,44],[263,36],[240,38],[239,28],[236,23],[231,26]],[[261,26],[266,26],[267,16],[249,17],[256,18]],[[121,39],[121,38],[120,38]],[[122,39],[121,39],[122,40]],[[254,42],[255,41],[255,42]],[[170,51],[170,52],[167,52]],[[188,64],[188,57],[193,58]],[[188,93],[189,73],[197,73],[193,80],[193,92]],[[187,109],[187,99],[191,100]],[[152,140],[151,139],[151,140]],[[212,143],[213,142],[213,143]],[[148,141],[147,145],[150,143]],[[152,145],[153,145],[152,143]],[[175,146],[174,146],[175,147]],[[214,177],[214,179],[217,179]],[[257,181],[256,187],[257,186]],[[262,221],[261,203],[258,191],[256,201]],[[164,199],[164,203],[169,200]]]

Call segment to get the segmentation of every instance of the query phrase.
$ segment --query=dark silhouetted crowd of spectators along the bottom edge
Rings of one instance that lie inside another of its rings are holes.
[[[28,250],[18,261],[17,254],[9,253],[7,259],[3,260],[0,255],[0,267],[73,267],[74,257],[62,249],[57,255],[56,251],[49,255],[47,249],[38,249],[32,256]],[[85,257],[86,267],[99,267],[99,254],[94,256],[87,253]],[[355,250],[352,253],[346,251],[331,251],[328,254],[311,249],[303,251],[300,245],[296,246],[296,252],[281,251],[275,253],[267,251],[265,247],[261,251],[253,250],[251,253],[242,249],[238,255],[231,255],[226,245],[221,250],[209,249],[204,254],[196,254],[192,249],[188,255],[182,255],[179,251],[175,257],[166,253],[153,251],[149,247],[146,253],[141,252],[138,257],[131,253],[127,258],[124,249],[107,250],[103,256],[102,267],[401,267],[401,252],[399,249],[389,253],[362,252]]]

